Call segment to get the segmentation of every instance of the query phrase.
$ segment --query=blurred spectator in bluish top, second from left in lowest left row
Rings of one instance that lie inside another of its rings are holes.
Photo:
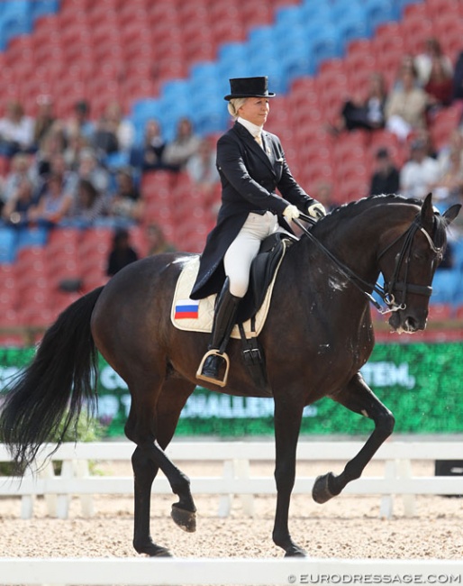
[[[65,189],[62,175],[52,173],[39,203],[29,213],[30,218],[39,225],[53,227],[68,215],[72,202],[73,197]]]

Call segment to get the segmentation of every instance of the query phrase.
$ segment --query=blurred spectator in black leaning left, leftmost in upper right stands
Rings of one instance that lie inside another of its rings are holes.
[[[381,73],[369,77],[368,95],[353,96],[342,106],[339,120],[329,126],[329,132],[337,135],[343,130],[376,130],[385,125],[386,84]]]

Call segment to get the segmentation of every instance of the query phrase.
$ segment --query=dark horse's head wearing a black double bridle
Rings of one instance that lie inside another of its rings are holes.
[[[410,206],[413,207],[413,206]],[[388,243],[379,255],[385,278],[389,325],[398,333],[423,330],[428,316],[432,278],[447,243],[446,228],[461,206],[451,206],[440,215],[429,194],[411,224],[404,221],[388,231]]]

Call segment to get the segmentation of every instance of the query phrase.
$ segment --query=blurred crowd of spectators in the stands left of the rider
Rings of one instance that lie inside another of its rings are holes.
[[[218,181],[213,148],[195,134],[189,119],[178,122],[171,142],[162,139],[157,120],[146,124],[142,144],[135,134],[115,102],[95,122],[82,100],[67,120],[54,116],[50,96],[38,99],[35,118],[24,114],[20,102],[10,102],[0,118],[0,156],[8,163],[0,179],[2,223],[128,228],[145,223],[140,188],[145,171],[185,172],[201,186]],[[120,157],[116,165],[114,154]]]

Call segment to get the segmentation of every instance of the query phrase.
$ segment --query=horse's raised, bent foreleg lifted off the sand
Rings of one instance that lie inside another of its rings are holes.
[[[316,479],[313,484],[312,495],[313,500],[318,503],[326,502],[337,496],[348,482],[360,478],[365,466],[377,452],[379,446],[392,434],[395,424],[393,414],[369,389],[359,373],[333,399],[350,409],[350,411],[372,419],[375,423],[375,429],[368,437],[367,443],[346,464],[344,470],[338,476],[329,472]]]

